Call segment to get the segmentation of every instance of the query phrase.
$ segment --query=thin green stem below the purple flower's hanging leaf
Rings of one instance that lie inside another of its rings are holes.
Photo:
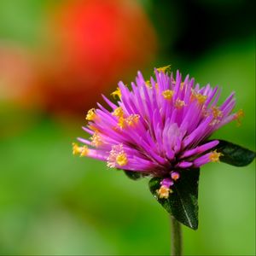
[[[175,218],[171,216],[171,255],[181,256],[183,254],[182,227]]]

